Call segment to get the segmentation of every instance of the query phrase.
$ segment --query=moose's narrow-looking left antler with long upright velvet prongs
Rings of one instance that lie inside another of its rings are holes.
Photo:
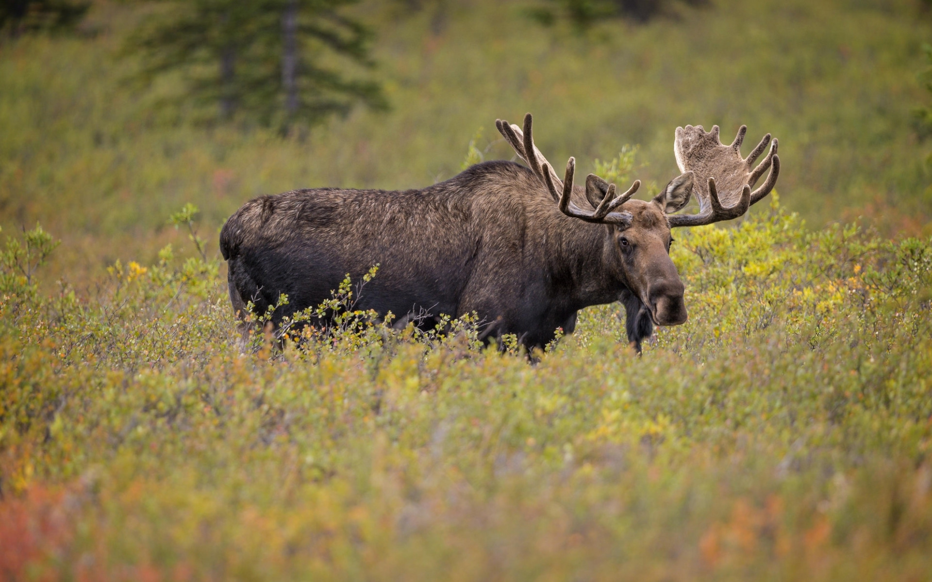
[[[573,174],[576,172],[576,158],[570,157],[567,162],[567,171],[560,182],[556,172],[551,167],[547,159],[541,154],[541,150],[534,145],[533,135],[531,133],[531,115],[525,115],[525,127],[522,131],[515,125],[509,124],[502,119],[495,120],[495,127],[504,136],[505,140],[511,143],[514,152],[528,162],[528,166],[534,175],[541,182],[546,184],[550,196],[557,203],[557,208],[567,216],[579,218],[588,223],[610,223],[610,224],[630,224],[631,214],[628,212],[615,212],[620,206],[628,201],[631,196],[637,192],[640,187],[640,181],[636,180],[631,184],[624,194],[615,197],[615,184],[609,184],[607,191],[604,193],[598,188],[598,179],[594,174],[589,174],[586,179],[586,199],[592,205],[594,211],[586,212],[579,208],[570,200],[573,192]],[[604,182],[602,182],[604,183]],[[561,192],[562,191],[562,192]]]

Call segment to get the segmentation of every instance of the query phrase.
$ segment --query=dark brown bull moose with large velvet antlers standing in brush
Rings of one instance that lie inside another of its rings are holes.
[[[347,274],[358,280],[378,264],[357,306],[391,312],[396,326],[433,327],[441,314],[474,312],[481,339],[514,333],[530,350],[557,328],[573,332],[583,307],[620,301],[639,353],[653,326],[687,318],[671,229],[744,215],[780,172],[775,139],[754,167],[769,133],[742,158],[746,126],[731,145],[720,142],[718,126],[686,126],[674,142],[682,173],[645,201],[632,197],[639,181],[623,194],[595,174],[574,185],[573,157],[561,181],[534,145],[531,123],[530,114],[523,129],[496,121],[527,167],[488,161],[419,190],[311,188],[247,202],[220,233],[234,310],[246,321],[247,302],[266,313],[285,293],[287,305],[273,312],[279,325],[329,299]],[[675,214],[693,195],[699,211]]]

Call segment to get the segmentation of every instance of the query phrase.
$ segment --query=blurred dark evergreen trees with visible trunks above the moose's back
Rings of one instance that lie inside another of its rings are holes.
[[[384,108],[379,85],[355,68],[371,67],[370,32],[340,9],[355,0],[192,0],[163,2],[130,35],[143,56],[142,79],[182,72],[173,101],[195,101],[229,118],[266,125],[321,123],[356,102]],[[286,27],[284,22],[292,22]]]

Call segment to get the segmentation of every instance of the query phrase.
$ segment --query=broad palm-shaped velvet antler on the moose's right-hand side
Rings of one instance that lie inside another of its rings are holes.
[[[679,170],[692,171],[695,175],[694,188],[699,199],[699,212],[668,214],[666,218],[671,227],[699,226],[737,218],[774,189],[780,175],[777,141],[771,144],[770,152],[761,164],[753,168],[755,160],[770,142],[770,134],[763,136],[754,151],[742,158],[741,143],[746,133],[747,126],[741,126],[732,144],[725,145],[719,139],[719,126],[712,126],[711,131],[706,131],[702,126],[677,128],[673,151],[677,156]],[[773,169],[767,181],[751,192],[763,172],[770,168]],[[724,206],[722,202],[729,206]]]

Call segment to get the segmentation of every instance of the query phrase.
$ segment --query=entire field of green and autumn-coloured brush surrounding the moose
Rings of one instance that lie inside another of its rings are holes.
[[[391,111],[287,137],[156,106],[130,3],[0,43],[0,579],[930,579],[932,12],[713,0],[579,36],[401,6],[358,7]],[[644,196],[678,125],[745,123],[779,194],[676,233],[690,320],[641,358],[618,305],[534,365],[468,318],[240,351],[240,204],[428,185],[510,157],[494,120],[526,111],[583,172],[639,145]]]

